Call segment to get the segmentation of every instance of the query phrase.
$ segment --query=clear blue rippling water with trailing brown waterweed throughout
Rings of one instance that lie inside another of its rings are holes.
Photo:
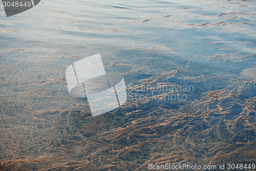
[[[255,6],[42,1],[11,17],[2,9],[0,168],[255,164]],[[124,77],[128,100],[91,117],[87,99],[69,95],[65,70],[97,53],[113,83]]]

